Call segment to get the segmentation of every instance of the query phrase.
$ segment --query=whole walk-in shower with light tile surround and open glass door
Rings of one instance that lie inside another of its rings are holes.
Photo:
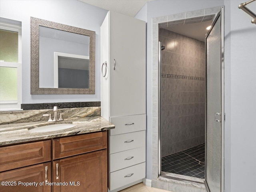
[[[224,7],[196,13],[152,25],[152,186],[223,192]]]

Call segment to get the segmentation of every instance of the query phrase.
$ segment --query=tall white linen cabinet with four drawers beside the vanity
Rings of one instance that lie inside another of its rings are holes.
[[[100,36],[101,63],[105,63],[101,68],[102,117],[115,125],[109,138],[108,187],[116,192],[146,176],[146,23],[110,11]],[[116,157],[123,159],[115,161]]]

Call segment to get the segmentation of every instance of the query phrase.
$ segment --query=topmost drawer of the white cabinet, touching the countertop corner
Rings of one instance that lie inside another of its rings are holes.
[[[115,129],[110,131],[110,135],[146,130],[146,114],[111,117],[110,122],[115,125]]]

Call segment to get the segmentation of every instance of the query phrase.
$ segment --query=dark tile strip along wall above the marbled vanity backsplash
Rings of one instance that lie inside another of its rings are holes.
[[[21,109],[26,110],[42,110],[42,109],[53,109],[57,106],[58,109],[64,108],[78,108],[78,107],[100,107],[100,101],[92,102],[71,102],[71,103],[32,103],[32,104],[21,104]]]

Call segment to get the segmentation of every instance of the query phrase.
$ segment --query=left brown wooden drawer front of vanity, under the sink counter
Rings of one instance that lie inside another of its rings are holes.
[[[50,160],[50,140],[0,148],[0,172]]]

